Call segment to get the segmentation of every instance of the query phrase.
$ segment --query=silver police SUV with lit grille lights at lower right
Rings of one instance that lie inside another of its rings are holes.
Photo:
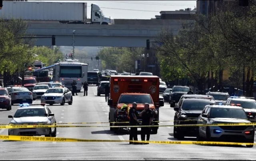
[[[244,109],[236,104],[212,103],[205,106],[198,117],[197,124],[250,123],[247,119]],[[254,143],[254,126],[198,126],[197,140]],[[246,147],[253,147],[253,145],[246,145]]]

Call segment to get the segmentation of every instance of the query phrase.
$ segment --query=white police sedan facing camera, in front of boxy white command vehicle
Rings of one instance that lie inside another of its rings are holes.
[[[72,92],[66,87],[53,87],[47,89],[47,91],[41,96],[41,103],[47,103],[49,105],[58,104],[64,105],[68,103],[72,105],[73,97]]]

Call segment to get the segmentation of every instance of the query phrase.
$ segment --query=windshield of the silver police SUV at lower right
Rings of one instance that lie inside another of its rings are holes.
[[[238,108],[212,108],[210,111],[210,118],[238,118],[248,119],[244,109]]]

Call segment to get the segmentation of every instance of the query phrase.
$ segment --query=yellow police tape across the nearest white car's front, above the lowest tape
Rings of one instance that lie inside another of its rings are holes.
[[[5,125],[0,129],[23,129],[23,128],[50,128],[50,127],[170,127],[170,126],[244,126],[256,125],[256,123],[215,123],[215,124],[184,124],[184,125],[137,125],[137,126],[82,126],[82,125]]]

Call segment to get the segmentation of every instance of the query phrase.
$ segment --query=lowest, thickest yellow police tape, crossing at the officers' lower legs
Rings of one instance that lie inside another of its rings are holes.
[[[96,139],[73,139],[63,137],[34,137],[0,135],[0,140],[10,141],[56,141],[56,142],[129,142],[129,140],[96,140]],[[255,143],[235,143],[216,141],[134,141],[136,143],[157,143],[157,144],[196,144],[196,145],[254,145]]]

